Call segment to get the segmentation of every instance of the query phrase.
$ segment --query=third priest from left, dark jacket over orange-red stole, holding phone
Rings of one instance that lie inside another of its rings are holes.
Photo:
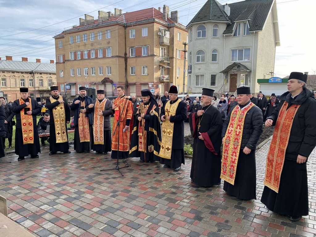
[[[79,87],[79,97],[75,98],[70,105],[74,111],[74,149],[76,152],[90,152],[93,145],[93,117],[91,109],[93,105],[92,98],[87,96],[87,88]]]

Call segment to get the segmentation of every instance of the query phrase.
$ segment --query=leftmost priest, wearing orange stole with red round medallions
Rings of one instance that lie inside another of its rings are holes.
[[[40,138],[37,131],[36,115],[40,113],[40,106],[36,100],[28,97],[28,88],[20,88],[21,98],[12,104],[15,113],[15,154],[18,161],[25,156],[38,158],[40,153]]]

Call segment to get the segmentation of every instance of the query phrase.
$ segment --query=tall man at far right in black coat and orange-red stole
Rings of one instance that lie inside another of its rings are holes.
[[[274,126],[267,155],[261,202],[292,221],[308,215],[306,162],[316,145],[316,100],[306,88],[307,75],[292,72],[288,92],[265,121]]]

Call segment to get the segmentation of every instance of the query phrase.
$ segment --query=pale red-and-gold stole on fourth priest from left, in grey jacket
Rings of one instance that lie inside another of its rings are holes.
[[[106,98],[101,103],[97,99],[94,105],[94,119],[93,119],[93,137],[94,144],[104,144],[104,116],[98,115],[100,111],[104,111]]]

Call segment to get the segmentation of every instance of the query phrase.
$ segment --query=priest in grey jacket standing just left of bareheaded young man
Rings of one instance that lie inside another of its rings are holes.
[[[105,98],[104,90],[97,90],[97,99],[92,102],[93,146],[95,154],[107,154],[111,151],[111,115],[112,101]]]

